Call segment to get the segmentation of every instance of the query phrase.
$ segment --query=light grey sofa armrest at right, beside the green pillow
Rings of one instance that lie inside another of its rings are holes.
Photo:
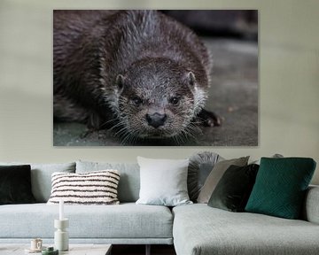
[[[304,219],[319,224],[319,186],[309,186],[307,189]]]

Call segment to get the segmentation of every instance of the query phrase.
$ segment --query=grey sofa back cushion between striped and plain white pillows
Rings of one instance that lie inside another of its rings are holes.
[[[76,173],[79,174],[105,169],[116,169],[121,175],[118,187],[120,202],[136,202],[140,189],[140,173],[137,163],[76,161]]]

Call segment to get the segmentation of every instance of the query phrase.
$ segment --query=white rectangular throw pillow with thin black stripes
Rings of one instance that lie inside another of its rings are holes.
[[[53,173],[49,205],[64,200],[66,205],[118,205],[118,170],[82,174]]]

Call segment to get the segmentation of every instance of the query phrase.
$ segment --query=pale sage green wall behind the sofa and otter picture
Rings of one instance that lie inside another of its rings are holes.
[[[258,147],[52,146],[52,9],[258,9]],[[217,151],[225,158],[282,153],[319,165],[319,1],[0,1],[0,161],[135,161]],[[318,166],[319,169],[319,166]],[[314,183],[319,184],[319,170]]]

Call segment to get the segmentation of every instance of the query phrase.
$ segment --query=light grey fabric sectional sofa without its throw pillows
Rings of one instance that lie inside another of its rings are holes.
[[[4,163],[0,163],[4,165]],[[12,163],[7,163],[12,165]],[[70,243],[172,244],[177,255],[319,254],[319,187],[310,187],[304,220],[286,220],[255,213],[230,213],[206,204],[136,205],[137,164],[78,161],[31,164],[31,182],[38,203],[0,205],[0,243],[27,243],[41,237],[53,243],[58,205],[46,205],[53,172],[83,173],[118,169],[121,205],[65,205]],[[1,244],[0,244],[1,245]]]

